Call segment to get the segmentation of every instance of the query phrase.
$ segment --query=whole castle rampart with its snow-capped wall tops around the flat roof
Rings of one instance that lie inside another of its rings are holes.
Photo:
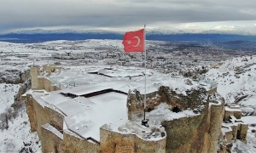
[[[216,152],[219,149],[220,139],[224,139],[224,145],[230,143],[232,139],[241,139],[246,142],[247,124],[239,120],[241,111],[233,106],[225,108],[224,99],[214,93],[217,88],[207,91],[199,85],[191,85],[184,91],[185,94],[177,94],[176,88],[167,86],[160,86],[157,91],[148,93],[146,116],[151,117],[148,122],[149,127],[141,125],[144,95],[137,90],[130,91],[126,108],[128,119],[132,122],[131,125],[126,123],[119,129],[119,127],[105,124],[98,129],[99,140],[85,138],[83,135],[69,130],[65,122],[67,115],[57,109],[57,106],[42,98],[61,88],[53,85],[48,77],[39,76],[38,67],[31,70],[32,79],[37,80],[32,81],[34,82],[32,89],[41,90],[34,90],[26,94],[26,108],[32,132],[38,132],[43,152],[196,153]],[[43,70],[49,71],[48,74],[55,71],[46,65]],[[68,94],[58,93],[58,95],[62,96],[63,101],[63,97],[68,97]],[[92,94],[92,97],[94,96],[98,95]],[[76,102],[79,103],[79,100]],[[55,104],[55,102],[53,103]],[[165,110],[160,110],[163,111],[162,114],[155,115],[154,111],[160,109],[158,107],[162,104],[165,104]],[[171,115],[166,116],[165,112],[167,111]],[[229,123],[224,124],[223,121]],[[157,136],[150,137],[154,134]]]

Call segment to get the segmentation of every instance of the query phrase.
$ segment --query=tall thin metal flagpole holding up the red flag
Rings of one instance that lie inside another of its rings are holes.
[[[142,125],[148,127],[148,120],[146,120],[146,92],[147,92],[147,79],[146,79],[146,72],[147,72],[147,52],[146,52],[146,25],[144,25],[144,52],[145,52],[145,59],[144,59],[144,65],[145,65],[145,93],[144,93],[144,119],[142,121]]]

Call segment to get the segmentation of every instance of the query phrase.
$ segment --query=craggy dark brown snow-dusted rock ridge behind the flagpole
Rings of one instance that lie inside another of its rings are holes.
[[[195,112],[201,111],[207,104],[207,91],[201,86],[192,87],[188,89],[186,95],[177,94],[175,91],[166,86],[160,86],[159,90],[150,94],[147,94],[147,107],[146,111],[154,110],[154,107],[160,105],[160,103],[166,103],[169,105],[169,109],[174,112],[184,110],[194,110]],[[127,109],[128,118],[131,120],[131,112],[143,111],[143,99],[144,95],[140,94],[137,90],[128,94]]]

